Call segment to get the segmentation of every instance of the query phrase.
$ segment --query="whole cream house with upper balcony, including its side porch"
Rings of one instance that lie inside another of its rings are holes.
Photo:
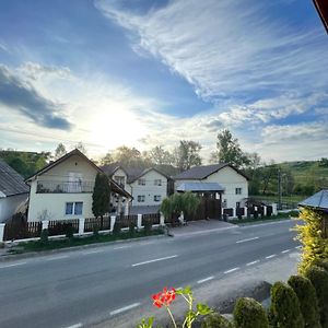
[[[73,150],[30,177],[27,221],[93,218],[92,194],[103,171],[79,150]],[[110,201],[128,213],[129,192],[110,180]],[[109,204],[108,204],[109,208]]]

